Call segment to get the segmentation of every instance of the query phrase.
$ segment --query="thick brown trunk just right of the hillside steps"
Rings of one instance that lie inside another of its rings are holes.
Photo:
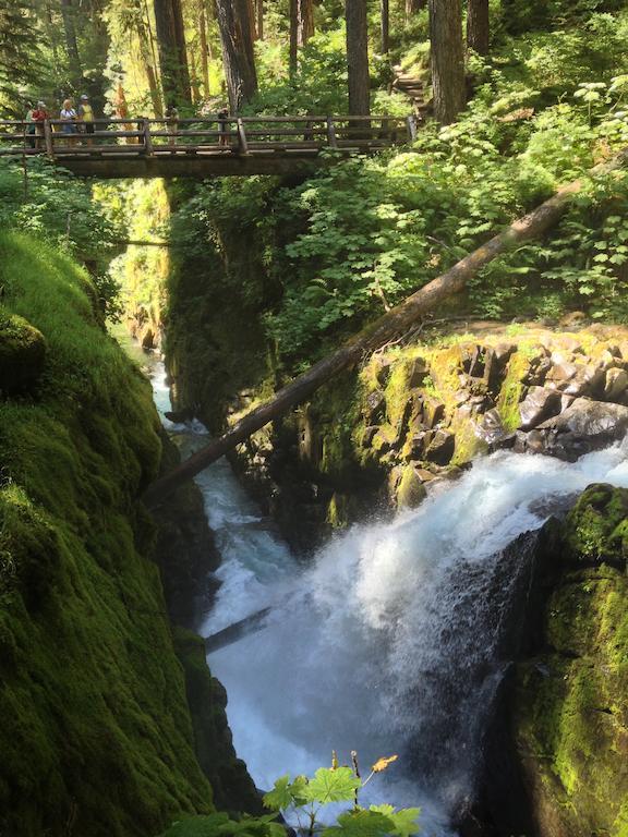
[[[434,113],[448,125],[464,107],[461,0],[430,0]]]

